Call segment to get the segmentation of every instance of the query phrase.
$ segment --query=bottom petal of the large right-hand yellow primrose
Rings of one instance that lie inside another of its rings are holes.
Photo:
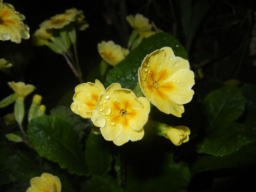
[[[152,94],[151,103],[166,114],[181,117],[181,114],[184,113],[184,106],[174,103],[165,94],[162,94],[162,97],[163,98],[159,97],[159,95]]]

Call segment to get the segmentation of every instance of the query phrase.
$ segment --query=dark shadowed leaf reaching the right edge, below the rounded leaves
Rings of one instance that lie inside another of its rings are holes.
[[[239,150],[225,156],[201,155],[190,166],[192,174],[205,170],[231,167],[251,167],[256,161],[256,142],[242,146]]]

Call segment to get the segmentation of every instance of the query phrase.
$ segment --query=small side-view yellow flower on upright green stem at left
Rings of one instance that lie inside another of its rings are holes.
[[[31,84],[25,84],[23,82],[15,83],[8,82],[8,85],[14,90],[18,97],[26,97],[35,90],[35,86]]]

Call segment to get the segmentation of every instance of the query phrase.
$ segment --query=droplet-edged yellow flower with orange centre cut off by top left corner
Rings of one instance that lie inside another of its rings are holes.
[[[29,27],[23,20],[25,16],[15,11],[13,5],[0,0],[0,40],[20,43],[21,38],[28,39]]]

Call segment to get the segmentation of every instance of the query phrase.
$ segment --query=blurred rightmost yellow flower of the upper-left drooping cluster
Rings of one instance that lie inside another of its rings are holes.
[[[84,20],[84,14],[82,10],[71,8],[65,11],[65,14],[75,14],[75,25],[78,26],[78,30],[84,31],[89,27],[89,24]]]

